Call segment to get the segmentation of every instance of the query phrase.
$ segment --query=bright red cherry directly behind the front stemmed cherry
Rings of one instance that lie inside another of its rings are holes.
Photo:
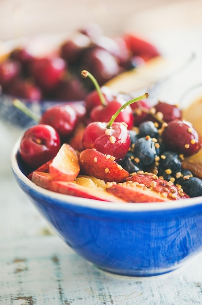
[[[92,109],[90,113],[90,118],[92,121],[110,121],[113,114],[117,112],[117,110],[125,104],[125,101],[122,99],[114,99],[109,102],[106,106],[99,105]],[[133,127],[133,111],[131,106],[127,106],[124,111],[121,111],[120,114],[115,119],[116,122],[124,122],[128,129],[132,129]]]

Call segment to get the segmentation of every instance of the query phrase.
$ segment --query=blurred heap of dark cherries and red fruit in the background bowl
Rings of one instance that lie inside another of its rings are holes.
[[[91,82],[78,77],[83,69],[91,72],[103,85],[123,71],[157,57],[151,43],[135,35],[103,35],[97,25],[79,29],[45,55],[35,55],[29,43],[13,48],[0,62],[2,92],[34,100],[83,100]]]

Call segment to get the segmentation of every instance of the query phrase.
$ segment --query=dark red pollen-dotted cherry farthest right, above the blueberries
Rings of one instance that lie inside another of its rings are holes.
[[[169,149],[185,156],[198,152],[202,138],[193,125],[185,120],[173,120],[162,132],[163,144]]]

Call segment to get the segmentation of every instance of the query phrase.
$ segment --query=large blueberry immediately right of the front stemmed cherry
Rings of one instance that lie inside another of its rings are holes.
[[[157,155],[155,143],[150,137],[141,137],[135,142],[134,156],[143,167],[151,165]]]

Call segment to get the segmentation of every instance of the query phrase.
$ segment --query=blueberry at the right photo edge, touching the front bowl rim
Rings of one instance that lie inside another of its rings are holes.
[[[197,177],[185,179],[182,183],[182,188],[189,197],[202,196],[202,180]]]

